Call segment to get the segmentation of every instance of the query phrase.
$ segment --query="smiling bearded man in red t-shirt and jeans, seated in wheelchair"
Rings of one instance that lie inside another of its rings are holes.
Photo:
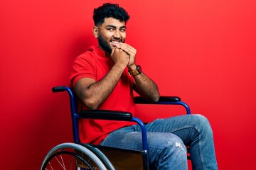
[[[70,84],[80,98],[80,109],[134,113],[133,90],[147,101],[159,100],[157,85],[136,63],[136,50],[125,43],[129,15],[118,4],[95,8],[92,32],[98,47],[75,59]],[[122,121],[80,120],[80,141],[142,149],[138,125]],[[213,133],[202,115],[181,115],[146,125],[151,169],[187,169],[190,146],[193,169],[217,169]]]

